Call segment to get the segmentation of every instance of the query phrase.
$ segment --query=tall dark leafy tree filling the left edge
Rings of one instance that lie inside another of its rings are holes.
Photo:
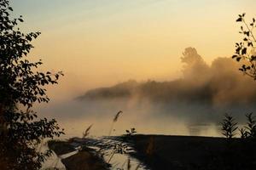
[[[32,105],[49,102],[44,86],[56,84],[62,73],[37,71],[42,61],[27,59],[40,32],[21,32],[22,16],[12,19],[11,11],[9,0],[0,0],[0,167],[39,169],[51,151],[42,153],[36,146],[63,129],[55,119],[38,119]]]

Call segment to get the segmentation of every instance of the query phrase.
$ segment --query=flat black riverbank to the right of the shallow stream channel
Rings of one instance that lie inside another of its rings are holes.
[[[152,170],[256,169],[253,145],[242,139],[138,134],[131,143],[132,156]]]

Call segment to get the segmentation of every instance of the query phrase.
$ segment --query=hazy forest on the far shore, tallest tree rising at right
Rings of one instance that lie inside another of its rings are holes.
[[[181,58],[183,77],[169,82],[121,82],[109,88],[89,90],[79,99],[149,99],[154,102],[187,102],[209,105],[253,105],[255,82],[238,71],[231,58],[217,58],[207,65],[195,48],[186,48]]]

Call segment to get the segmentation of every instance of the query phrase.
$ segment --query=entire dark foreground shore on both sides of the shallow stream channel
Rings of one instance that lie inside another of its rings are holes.
[[[113,145],[128,144],[129,154],[151,170],[253,170],[256,169],[255,143],[250,140],[195,136],[131,135],[108,138]],[[74,142],[75,141],[75,142]],[[91,142],[92,141],[92,142]],[[116,141],[117,143],[114,143]],[[111,165],[100,152],[86,145],[108,147],[102,139],[75,139],[49,143],[49,148],[60,156],[72,152],[78,145],[83,149],[61,161],[68,169],[109,169]],[[131,169],[134,169],[132,167]]]

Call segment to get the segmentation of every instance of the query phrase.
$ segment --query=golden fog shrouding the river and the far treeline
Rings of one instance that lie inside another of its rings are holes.
[[[90,135],[108,135],[118,111],[123,113],[113,135],[135,127],[138,133],[220,136],[225,113],[243,124],[244,115],[255,111],[255,82],[238,71],[241,64],[216,58],[207,65],[195,48],[186,48],[181,61],[183,77],[177,80],[130,80],[95,88],[74,99],[38,106],[38,112],[54,116],[67,136],[82,136],[90,124]]]

